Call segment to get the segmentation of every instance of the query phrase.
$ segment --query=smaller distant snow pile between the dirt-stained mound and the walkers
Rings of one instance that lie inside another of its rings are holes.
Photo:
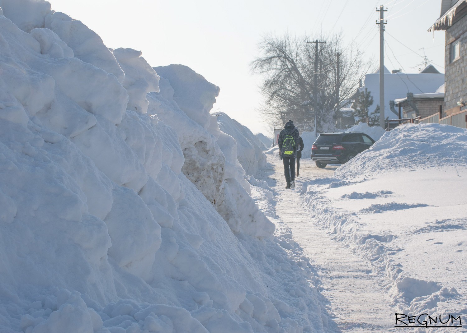
[[[212,114],[217,117],[220,130],[237,141],[237,158],[247,174],[255,175],[258,169],[267,167],[266,155],[262,152],[265,147],[261,142],[258,142],[258,139],[247,127],[230,118],[224,112]]]

